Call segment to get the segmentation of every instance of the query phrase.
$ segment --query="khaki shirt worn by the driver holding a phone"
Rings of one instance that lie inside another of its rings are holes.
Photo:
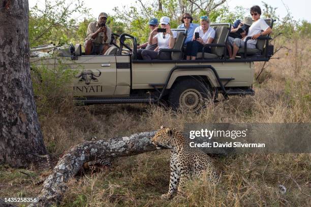
[[[98,36],[93,39],[92,35],[94,34],[94,32],[96,32],[99,29],[99,25],[97,21],[91,22],[88,24],[87,26],[87,31],[86,31],[86,38],[85,40],[91,40],[93,43],[95,44],[110,44],[111,41],[111,29],[109,28],[109,26],[106,24],[106,28],[107,28],[107,41],[104,42],[104,32],[99,32]]]

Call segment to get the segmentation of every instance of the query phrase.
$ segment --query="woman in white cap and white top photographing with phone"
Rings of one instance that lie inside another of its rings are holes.
[[[158,47],[152,50],[143,50],[141,56],[144,60],[152,59],[171,59],[171,52],[162,52],[158,57],[158,51],[160,49],[172,49],[175,44],[177,33],[171,31],[170,18],[162,17],[160,19],[161,28],[166,28],[166,32],[158,32],[158,27],[154,28],[149,36],[148,44],[158,44]]]

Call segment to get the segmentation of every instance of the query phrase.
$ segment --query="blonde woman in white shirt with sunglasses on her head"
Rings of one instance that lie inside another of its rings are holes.
[[[194,30],[194,35],[191,42],[188,42],[186,47],[186,59],[195,60],[198,52],[211,53],[210,47],[204,47],[204,44],[212,43],[215,38],[215,30],[209,26],[209,19],[207,16],[200,17],[200,25]],[[199,32],[199,38],[196,39],[195,33]]]

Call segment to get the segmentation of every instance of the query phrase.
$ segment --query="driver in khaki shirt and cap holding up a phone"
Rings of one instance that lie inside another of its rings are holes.
[[[98,21],[88,24],[85,38],[85,55],[104,54],[111,42],[111,29],[106,25],[108,15],[100,13]]]

